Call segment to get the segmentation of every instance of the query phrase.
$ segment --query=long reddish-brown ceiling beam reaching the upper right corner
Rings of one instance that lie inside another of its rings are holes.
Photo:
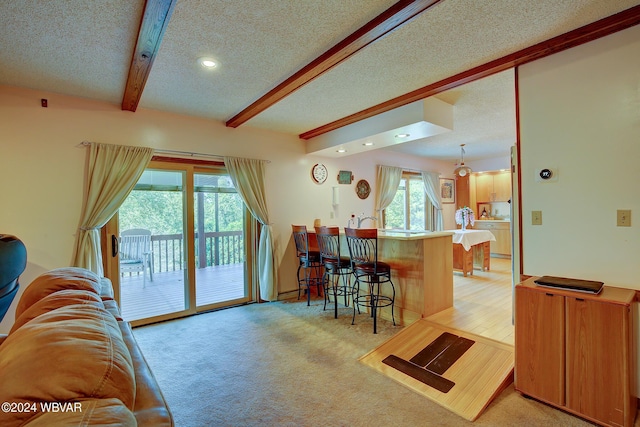
[[[302,139],[311,139],[316,136],[325,134],[332,130],[359,122],[360,120],[373,117],[375,115],[402,107],[421,99],[428,98],[449,89],[462,86],[481,78],[526,64],[536,59],[579,46],[598,39],[600,37],[613,34],[634,25],[640,24],[640,5],[626,9],[617,14],[603,18],[599,21],[553,37],[549,40],[537,43],[528,48],[519,50],[515,53],[503,56],[502,58],[487,62],[486,64],[477,66],[467,71],[463,71],[444,80],[416,89],[412,92],[385,101],[373,107],[343,117],[334,122],[312,129],[299,135]]]

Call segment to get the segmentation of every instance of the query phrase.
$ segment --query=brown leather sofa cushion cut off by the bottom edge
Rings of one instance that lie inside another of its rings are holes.
[[[118,399],[92,399],[65,403],[64,411],[41,412],[30,419],[28,427],[136,426],[133,413]],[[77,405],[80,405],[79,407]]]

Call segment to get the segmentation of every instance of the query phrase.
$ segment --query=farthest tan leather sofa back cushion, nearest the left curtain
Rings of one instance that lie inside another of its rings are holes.
[[[64,267],[36,277],[27,286],[16,306],[16,319],[37,301],[57,291],[78,289],[100,295],[102,285],[97,274],[84,268]]]

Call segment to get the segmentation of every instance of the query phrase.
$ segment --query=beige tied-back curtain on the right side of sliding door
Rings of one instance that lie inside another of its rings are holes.
[[[274,301],[278,298],[278,283],[273,252],[272,227],[269,222],[267,198],[264,190],[264,160],[225,157],[224,164],[233,185],[244,200],[251,215],[262,224],[258,246],[258,283],[260,298]]]

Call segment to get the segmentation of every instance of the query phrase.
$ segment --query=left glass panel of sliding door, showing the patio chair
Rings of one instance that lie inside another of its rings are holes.
[[[188,308],[184,182],[183,171],[146,170],[120,207],[120,307],[127,321]]]

